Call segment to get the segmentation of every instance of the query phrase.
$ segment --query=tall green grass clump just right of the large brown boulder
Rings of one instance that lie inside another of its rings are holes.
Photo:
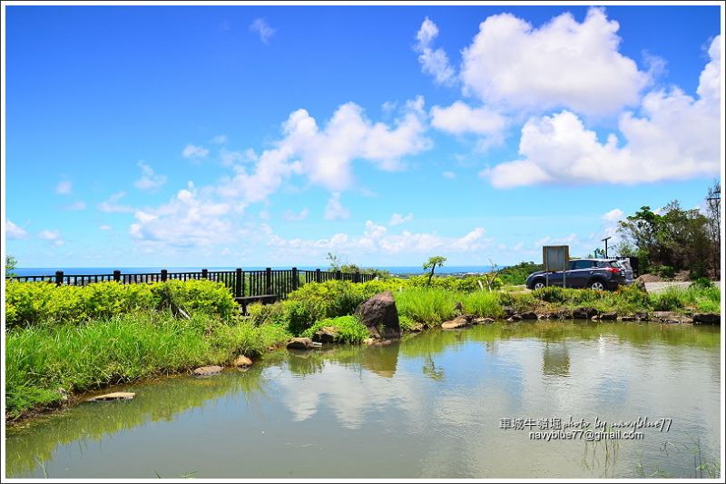
[[[457,292],[437,288],[408,289],[395,292],[394,296],[399,314],[427,326],[450,320],[456,302],[462,299]]]

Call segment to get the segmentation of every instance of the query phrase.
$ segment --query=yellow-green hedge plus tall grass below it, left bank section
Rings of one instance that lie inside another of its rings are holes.
[[[5,408],[15,418],[86,390],[259,355],[289,339],[279,325],[235,313],[215,282],[56,287],[13,282],[5,291]]]

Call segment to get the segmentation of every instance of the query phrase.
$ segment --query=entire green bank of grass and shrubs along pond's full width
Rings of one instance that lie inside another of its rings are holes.
[[[445,279],[445,278],[441,278]],[[309,283],[289,299],[250,305],[237,313],[230,292],[208,281],[86,287],[10,282],[5,291],[5,391],[8,415],[54,406],[61,389],[86,390],[153,375],[223,364],[255,356],[291,336],[332,327],[337,341],[358,343],[368,331],[354,316],[358,304],[392,291],[403,331],[438,327],[459,313],[501,319],[511,311],[566,318],[594,308],[619,316],[651,311],[719,312],[721,291],[701,282],[691,288],[646,294],[619,291],[483,291],[476,281],[417,280]]]

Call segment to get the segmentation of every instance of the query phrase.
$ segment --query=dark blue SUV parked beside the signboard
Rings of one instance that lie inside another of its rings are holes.
[[[570,288],[588,288],[598,291],[613,291],[628,281],[625,268],[617,259],[575,259],[570,261],[567,271],[545,273],[544,271],[529,274],[526,280],[528,289],[540,289],[545,286]]]

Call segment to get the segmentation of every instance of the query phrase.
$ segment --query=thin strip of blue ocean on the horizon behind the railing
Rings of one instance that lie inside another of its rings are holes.
[[[394,275],[423,274],[425,271],[420,265],[411,266],[373,266],[376,269],[388,271]],[[112,274],[113,271],[121,271],[123,274],[161,272],[166,269],[169,272],[201,272],[202,269],[210,271],[234,271],[237,267],[18,267],[15,268],[15,275],[18,276],[43,276],[54,275],[56,271],[63,271],[65,275],[87,275],[87,274]],[[243,266],[245,271],[260,271],[264,267]],[[290,269],[289,266],[277,266],[272,269]],[[315,271],[320,269],[326,271],[326,266],[298,266],[300,271]],[[437,274],[466,274],[487,272],[491,269],[488,265],[452,265],[438,267]]]

